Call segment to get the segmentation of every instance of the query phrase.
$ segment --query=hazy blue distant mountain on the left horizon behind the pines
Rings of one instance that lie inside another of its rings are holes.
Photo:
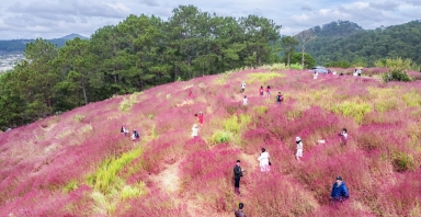
[[[79,37],[81,39],[89,39],[89,37],[84,37],[79,34],[70,34],[66,35],[59,38],[53,38],[53,39],[47,39],[48,42],[56,44],[57,47],[62,47],[66,45],[67,41],[73,39],[75,37]],[[5,41],[0,41],[0,55],[3,54],[11,54],[11,53],[23,53],[26,48],[27,43],[32,43],[35,39],[5,39]]]

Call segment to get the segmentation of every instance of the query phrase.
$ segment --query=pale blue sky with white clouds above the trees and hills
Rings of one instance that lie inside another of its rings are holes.
[[[284,35],[337,20],[369,30],[421,19],[421,0],[9,0],[0,3],[0,39],[56,38],[70,33],[90,36],[129,14],[155,14],[167,20],[180,4],[224,16],[264,16],[282,25]]]

